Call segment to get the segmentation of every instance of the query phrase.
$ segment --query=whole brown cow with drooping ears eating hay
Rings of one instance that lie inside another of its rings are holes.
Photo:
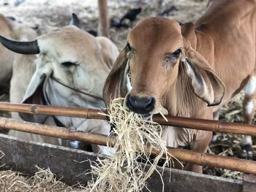
[[[146,18],[127,37],[105,82],[104,98],[125,97],[124,107],[141,114],[212,119],[213,112],[246,85],[246,97],[256,91],[256,1],[216,0],[195,21],[179,26],[167,18]],[[132,89],[127,90],[127,73]],[[247,112],[254,105],[248,100]],[[249,117],[249,116],[248,116]],[[251,121],[248,118],[247,122]],[[205,152],[209,131],[166,127],[168,146],[190,143]],[[188,170],[202,167],[188,164]]]

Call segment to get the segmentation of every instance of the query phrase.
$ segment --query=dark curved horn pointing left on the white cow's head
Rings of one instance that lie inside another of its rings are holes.
[[[0,42],[4,47],[7,47],[7,49],[12,50],[15,53],[26,55],[40,53],[37,40],[33,42],[16,42],[0,36]]]

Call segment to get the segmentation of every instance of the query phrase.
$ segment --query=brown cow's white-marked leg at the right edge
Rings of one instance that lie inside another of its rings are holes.
[[[256,93],[256,77],[251,77],[245,87],[244,96],[244,120],[245,123],[252,124],[255,116],[255,93]],[[241,158],[252,159],[252,137],[243,135],[242,138]]]

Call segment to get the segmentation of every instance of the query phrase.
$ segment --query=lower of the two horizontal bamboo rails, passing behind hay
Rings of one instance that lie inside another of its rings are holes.
[[[75,139],[80,142],[89,142],[97,145],[106,145],[107,137],[100,134],[89,134],[81,131],[70,131],[68,128],[59,128],[55,126],[46,126],[38,123],[22,122],[9,118],[0,118],[0,128],[14,129],[17,131],[26,131],[33,134],[42,134],[49,137],[59,137],[62,139]],[[112,143],[115,141],[111,138]],[[168,152],[178,158],[180,161],[190,162],[202,166],[214,166],[222,169],[256,174],[256,162],[242,160],[239,158],[230,158],[219,155],[210,155],[199,153],[192,150],[182,150],[173,147],[167,147]],[[157,150],[154,151],[157,153]]]

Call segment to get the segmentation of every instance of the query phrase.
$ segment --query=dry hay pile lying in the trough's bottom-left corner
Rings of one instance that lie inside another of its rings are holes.
[[[70,187],[65,183],[62,183],[60,180],[57,180],[56,175],[50,172],[50,169],[41,169],[38,166],[36,167],[38,172],[36,172],[32,177],[21,174],[20,172],[13,172],[11,170],[1,171],[0,191],[83,191],[83,188],[76,188],[75,186]]]

